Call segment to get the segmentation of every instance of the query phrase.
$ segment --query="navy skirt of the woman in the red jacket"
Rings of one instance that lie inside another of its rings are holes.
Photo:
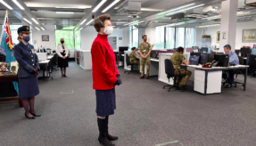
[[[116,110],[115,88],[110,90],[96,90],[97,116],[105,117],[114,114]]]

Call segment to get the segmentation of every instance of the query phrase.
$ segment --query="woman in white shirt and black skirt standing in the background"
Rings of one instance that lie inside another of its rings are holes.
[[[64,45],[64,38],[61,38],[60,41],[61,41],[61,44],[57,46],[57,50],[56,50],[56,53],[59,56],[58,67],[61,68],[62,77],[67,77],[66,68],[69,67],[69,61],[68,61],[69,49],[67,45]]]

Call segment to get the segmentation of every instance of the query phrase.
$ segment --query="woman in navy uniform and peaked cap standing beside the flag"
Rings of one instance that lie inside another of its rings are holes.
[[[21,42],[14,47],[14,56],[19,63],[19,98],[25,109],[25,117],[35,119],[40,117],[34,110],[35,96],[39,94],[37,75],[39,61],[33,45],[29,45],[30,31],[28,26],[18,29]]]

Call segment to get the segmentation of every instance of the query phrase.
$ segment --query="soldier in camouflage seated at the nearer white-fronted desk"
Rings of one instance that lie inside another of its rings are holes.
[[[184,77],[181,82],[180,82],[181,77],[177,77],[177,81],[176,81],[176,84],[179,84],[179,87],[181,89],[186,90],[185,85],[186,85],[186,82],[187,82],[188,78],[191,76],[192,72],[189,71],[189,70],[180,69],[181,64],[185,64],[186,66],[189,65],[189,61],[185,60],[185,57],[184,57],[183,53],[184,53],[184,48],[181,47],[181,46],[178,47],[177,52],[173,53],[171,55],[170,61],[172,61],[173,68],[175,69],[174,70],[175,74],[179,74],[178,69],[180,70],[181,74],[185,74],[185,72],[186,72],[186,77]]]

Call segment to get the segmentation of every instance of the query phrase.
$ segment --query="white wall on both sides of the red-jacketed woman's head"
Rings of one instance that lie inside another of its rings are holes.
[[[81,31],[81,49],[91,50],[91,46],[97,37],[95,27],[87,27]],[[110,37],[117,37],[117,48],[120,46],[129,46],[129,28],[120,28],[113,31]],[[119,40],[122,37],[122,40]]]

